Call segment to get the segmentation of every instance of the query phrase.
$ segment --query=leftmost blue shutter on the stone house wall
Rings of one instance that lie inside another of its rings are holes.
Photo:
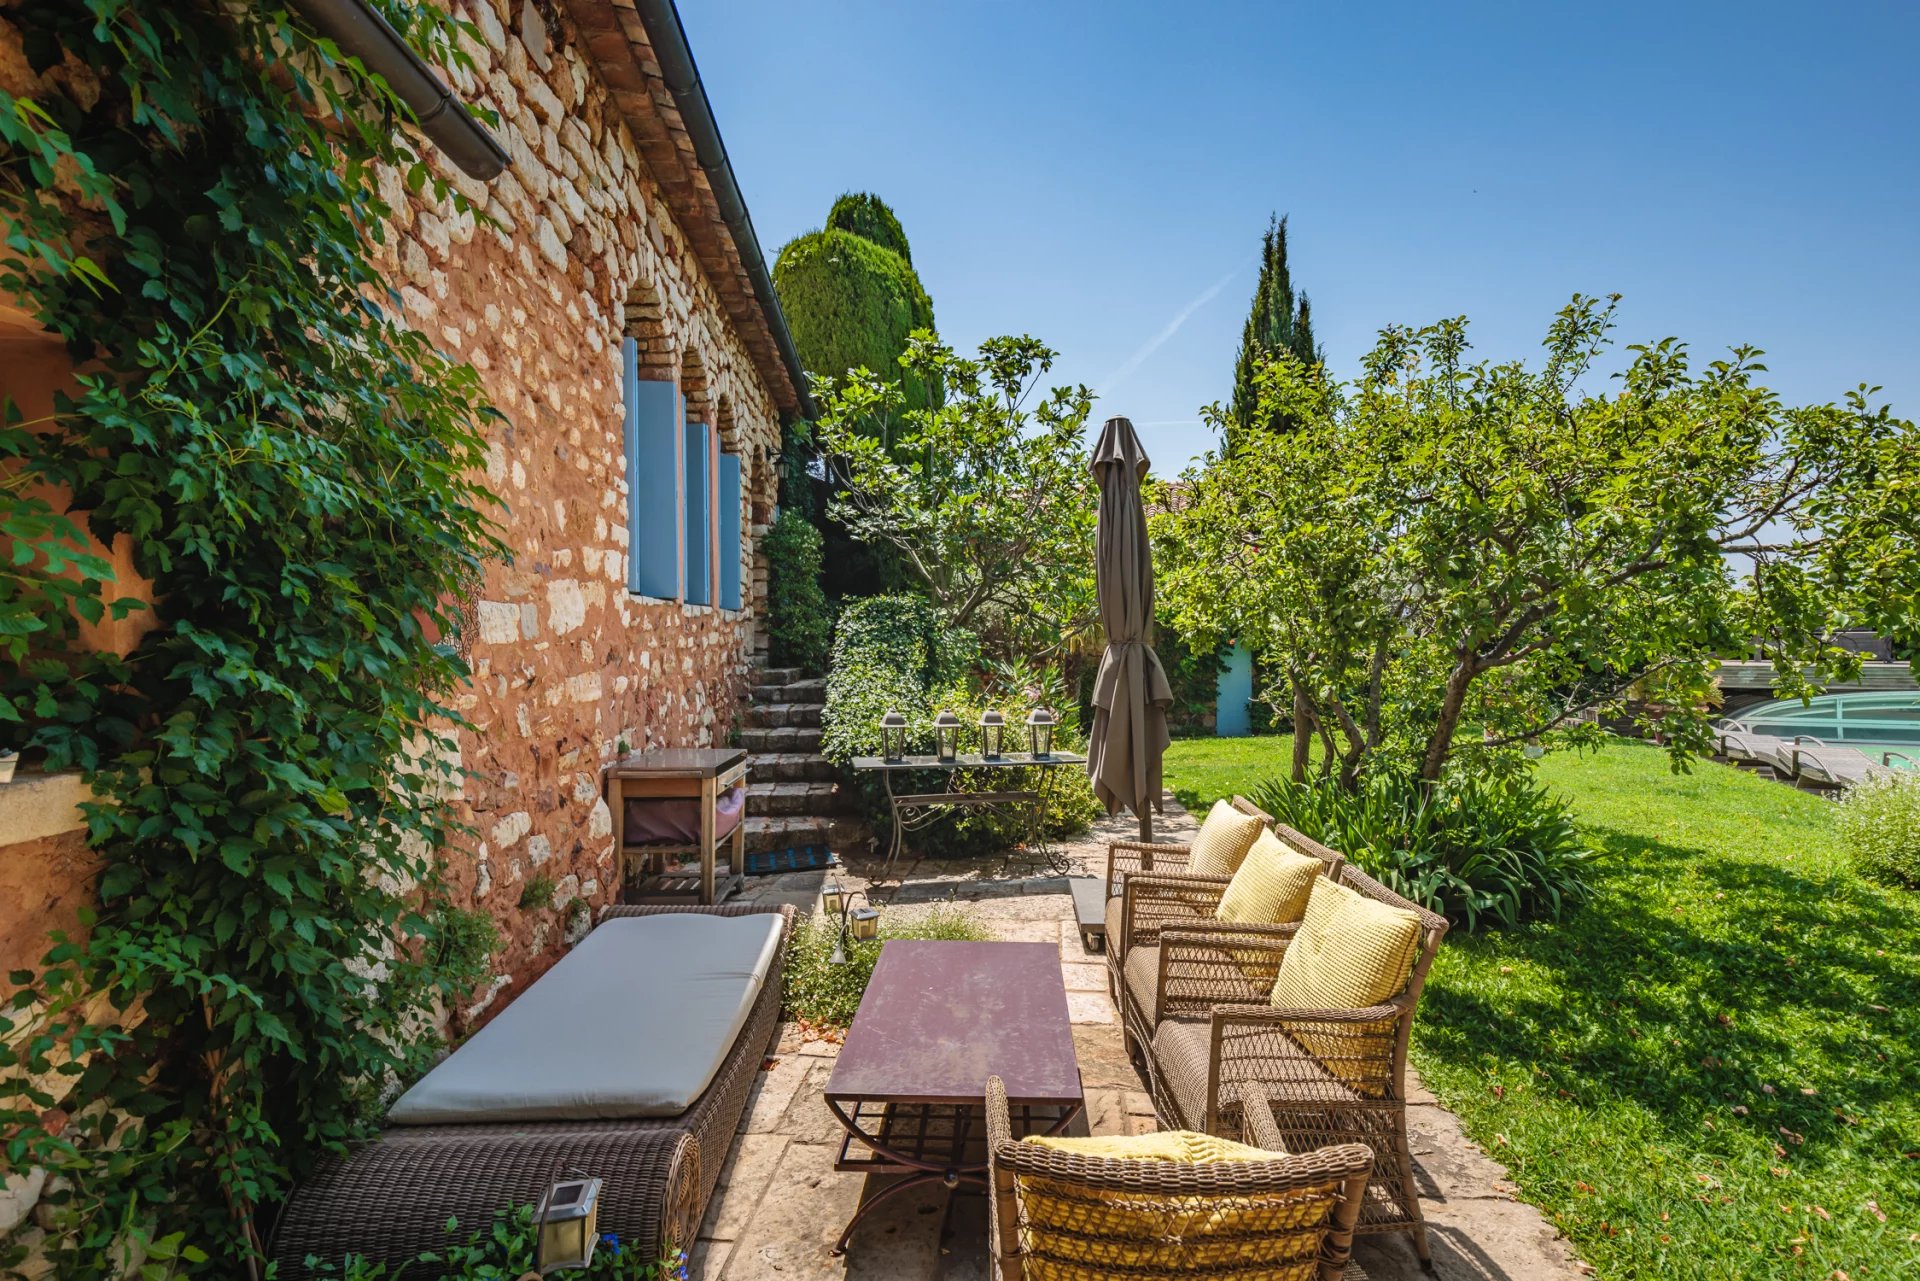
[[[672,382],[639,376],[639,344],[620,346],[626,384],[626,590],[680,595],[680,417]]]

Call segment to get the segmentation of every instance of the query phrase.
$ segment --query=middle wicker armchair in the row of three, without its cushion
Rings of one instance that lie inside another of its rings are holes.
[[[1269,820],[1269,826],[1277,837],[1300,853],[1319,858],[1327,878],[1338,880],[1340,868],[1346,864],[1340,851],[1327,849],[1283,822]],[[1169,872],[1127,872],[1121,878],[1119,897],[1108,901],[1106,987],[1114,997],[1114,1008],[1121,1014],[1129,1052],[1144,1049],[1160,1022],[1160,989],[1165,981],[1160,955],[1164,930],[1217,930],[1235,935],[1260,935],[1281,945],[1294,937],[1298,926],[1290,924],[1252,926],[1217,920],[1213,912],[1229,883],[1227,876]],[[1273,987],[1271,972],[1265,981],[1267,987]],[[1219,999],[1265,1001],[1265,989],[1235,985],[1219,993]]]

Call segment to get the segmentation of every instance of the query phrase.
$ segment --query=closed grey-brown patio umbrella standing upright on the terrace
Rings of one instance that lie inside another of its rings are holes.
[[[1106,421],[1092,451],[1092,474],[1100,482],[1092,568],[1106,653],[1092,686],[1087,774],[1106,812],[1119,812],[1125,805],[1140,818],[1140,839],[1152,839],[1173,688],[1152,645],[1154,553],[1140,505],[1146,451],[1133,434],[1133,423]]]

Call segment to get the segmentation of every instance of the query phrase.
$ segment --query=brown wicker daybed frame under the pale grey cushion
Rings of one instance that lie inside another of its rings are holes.
[[[447,1245],[447,1220],[461,1231],[492,1221],[497,1210],[538,1204],[568,1172],[603,1179],[601,1231],[657,1254],[689,1246],[699,1229],[747,1108],[747,1095],[780,1027],[780,995],[791,906],[611,906],[609,920],[664,914],[751,916],[778,912],[780,935],[758,995],[705,1089],[678,1116],[589,1120],[507,1120],[482,1124],[392,1125],[355,1152],[326,1162],[288,1198],[271,1254],[280,1277],[309,1275],[305,1260],[361,1254],[397,1264]],[[634,1004],[607,1018],[645,1026],[647,976],[634,974]],[[518,997],[540,991],[543,976]],[[568,1047],[551,1047],[563,1060]]]

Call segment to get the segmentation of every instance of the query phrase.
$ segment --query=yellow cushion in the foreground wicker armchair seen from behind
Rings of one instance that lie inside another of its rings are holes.
[[[1213,1164],[1273,1160],[1277,1152],[1185,1129],[1098,1139],[1027,1137],[1075,1156]],[[1313,1281],[1319,1243],[1338,1193],[1332,1183],[1242,1196],[1087,1187],[1016,1175],[1020,1252],[1031,1281],[1233,1275]]]

